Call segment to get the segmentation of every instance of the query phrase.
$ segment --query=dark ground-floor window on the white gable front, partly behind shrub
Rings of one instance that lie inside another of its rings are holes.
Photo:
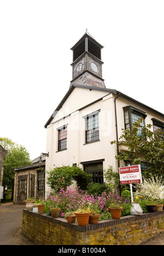
[[[91,182],[103,183],[103,163],[86,164],[84,171],[92,176]]]

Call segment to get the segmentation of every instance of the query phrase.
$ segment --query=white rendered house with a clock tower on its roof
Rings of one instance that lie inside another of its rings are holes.
[[[108,166],[118,171],[115,155],[124,148],[110,142],[118,140],[122,128],[131,128],[138,117],[144,119],[143,125],[152,124],[154,129],[164,126],[162,113],[106,88],[102,78],[102,48],[87,32],[71,48],[71,86],[45,124],[46,152],[49,152],[45,169],[77,164],[92,175],[92,181],[99,183],[103,182],[103,170]]]

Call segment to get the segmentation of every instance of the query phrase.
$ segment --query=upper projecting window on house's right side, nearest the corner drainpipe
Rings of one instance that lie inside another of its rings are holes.
[[[139,118],[142,118],[143,121],[140,123],[140,127],[138,130],[138,136],[141,135],[142,127],[145,126],[145,111],[139,108],[136,108],[132,105],[128,105],[123,108],[124,109],[124,120],[125,120],[125,129],[132,129],[133,124],[138,121]]]

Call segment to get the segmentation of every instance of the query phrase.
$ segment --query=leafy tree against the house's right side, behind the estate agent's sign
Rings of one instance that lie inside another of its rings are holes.
[[[164,141],[162,131],[151,130],[152,125],[142,127],[141,133],[139,133],[139,126],[143,122],[142,118],[139,118],[132,127],[132,129],[122,129],[122,135],[120,136],[120,142],[112,141],[113,143],[121,143],[128,147],[127,152],[119,152],[115,158],[120,160],[128,160],[131,164],[140,164],[144,159],[148,169],[143,172],[145,177],[149,177],[150,174],[162,175],[164,178]]]

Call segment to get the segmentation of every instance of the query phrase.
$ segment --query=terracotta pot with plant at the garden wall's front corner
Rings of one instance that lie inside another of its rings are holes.
[[[86,226],[89,222],[90,208],[86,208],[84,205],[75,212],[79,226]]]

